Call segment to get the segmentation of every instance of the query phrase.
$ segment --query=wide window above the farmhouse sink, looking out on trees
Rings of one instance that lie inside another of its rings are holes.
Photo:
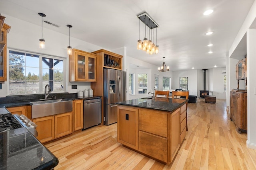
[[[52,92],[64,92],[63,59],[9,51],[9,94],[40,94],[49,84]]]

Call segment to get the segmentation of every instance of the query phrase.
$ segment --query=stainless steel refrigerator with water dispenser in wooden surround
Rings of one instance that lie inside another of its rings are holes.
[[[104,125],[117,122],[116,102],[126,100],[126,72],[104,69]]]

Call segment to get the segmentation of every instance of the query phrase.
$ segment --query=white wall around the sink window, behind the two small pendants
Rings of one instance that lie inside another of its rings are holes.
[[[69,82],[68,79],[68,55],[66,47],[68,45],[68,35],[58,33],[46,28],[43,28],[43,38],[45,39],[46,49],[39,49],[39,39],[41,38],[41,26],[34,25],[32,23],[13,18],[6,14],[2,14],[6,17],[5,23],[11,26],[10,32],[7,37],[7,48],[20,49],[23,51],[29,51],[33,53],[53,55],[66,59],[66,91],[75,93],[78,90],[84,90],[90,88],[90,82]],[[70,45],[75,49],[83,51],[96,51],[102,49],[97,45],[81,41],[70,37]],[[8,53],[7,53],[8,55]],[[8,57],[7,57],[8,58]],[[0,97],[8,95],[8,83],[2,83],[2,90],[0,90]],[[78,85],[78,89],[71,89],[71,85]]]

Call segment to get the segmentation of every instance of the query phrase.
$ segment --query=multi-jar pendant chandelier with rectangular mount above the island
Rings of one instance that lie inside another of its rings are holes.
[[[145,12],[137,16],[139,19],[139,29],[140,29],[140,22],[144,23],[143,25],[143,41],[140,39],[140,32],[139,32],[139,40],[137,43],[137,49],[146,51],[146,53],[152,55],[157,54],[159,52],[158,45],[157,45],[157,23],[150,18],[150,16]],[[154,29],[156,30],[156,43],[154,42]]]

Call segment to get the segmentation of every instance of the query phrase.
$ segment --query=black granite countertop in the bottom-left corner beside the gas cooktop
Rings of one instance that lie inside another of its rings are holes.
[[[0,169],[50,170],[58,162],[58,158],[26,128],[0,133]]]

